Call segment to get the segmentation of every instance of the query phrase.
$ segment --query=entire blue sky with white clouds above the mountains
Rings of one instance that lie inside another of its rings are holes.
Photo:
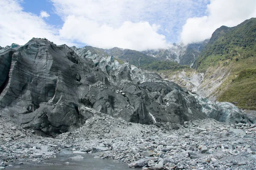
[[[0,0],[0,45],[45,37],[78,47],[168,48],[250,17],[255,0]]]

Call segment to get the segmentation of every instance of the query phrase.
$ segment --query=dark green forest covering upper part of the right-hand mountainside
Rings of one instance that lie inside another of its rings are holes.
[[[194,68],[204,72],[210,66],[221,65],[226,60],[256,57],[256,18],[245,20],[236,27],[221,26],[196,59]],[[227,64],[227,63],[225,63]]]

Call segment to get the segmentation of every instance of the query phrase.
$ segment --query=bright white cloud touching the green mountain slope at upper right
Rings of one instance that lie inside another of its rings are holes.
[[[211,37],[221,26],[236,26],[246,19],[256,17],[255,0],[211,0],[207,5],[208,16],[186,20],[182,28],[181,41],[184,44],[201,42]]]

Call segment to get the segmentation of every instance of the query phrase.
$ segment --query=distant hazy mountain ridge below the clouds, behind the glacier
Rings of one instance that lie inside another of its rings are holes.
[[[114,47],[106,49],[105,51],[109,55],[113,55],[115,58],[130,62],[132,65],[140,65],[142,68],[144,67],[149,69],[157,67],[154,65],[154,63],[157,63],[156,61],[163,61],[163,64],[167,61],[167,65],[172,62],[179,63],[179,65],[193,65],[195,59],[208,42],[209,40],[205,40],[203,42],[193,43],[186,46],[174,43],[170,48],[158,50],[135,51]],[[152,67],[152,65],[154,66]]]

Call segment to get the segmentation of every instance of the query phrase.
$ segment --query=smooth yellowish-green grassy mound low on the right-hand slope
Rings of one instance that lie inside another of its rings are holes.
[[[256,69],[241,71],[221,94],[219,101],[238,102],[239,108],[256,109]]]

